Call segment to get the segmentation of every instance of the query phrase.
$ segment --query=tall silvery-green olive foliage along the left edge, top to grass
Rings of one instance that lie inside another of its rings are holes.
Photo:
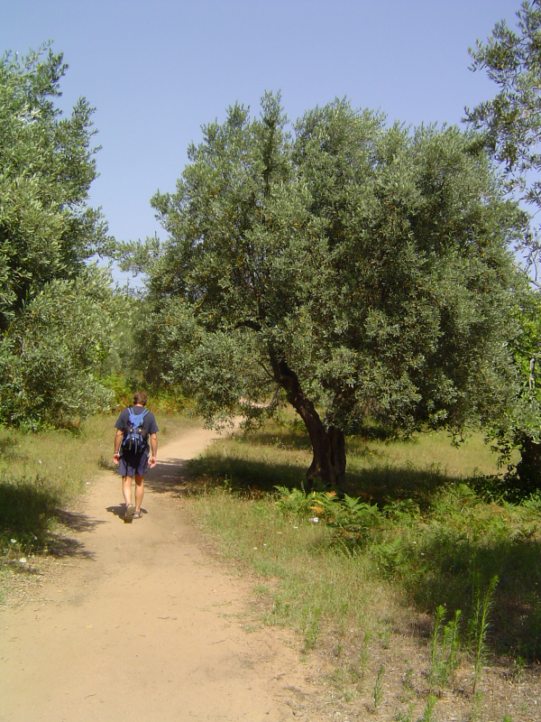
[[[76,407],[77,413],[92,403],[98,408],[107,395],[91,379],[82,384],[102,353],[96,356],[96,344],[105,349],[108,343],[107,304],[101,314],[97,308],[110,294],[110,279],[86,264],[108,239],[100,212],[87,205],[96,178],[92,108],[81,98],[65,117],[55,105],[66,68],[49,45],[23,59],[11,54],[0,59],[0,422],[5,423],[55,422],[60,408],[57,421],[65,422]]]

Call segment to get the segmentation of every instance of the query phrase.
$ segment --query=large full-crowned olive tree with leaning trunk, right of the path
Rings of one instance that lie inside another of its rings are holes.
[[[505,403],[524,214],[456,128],[386,128],[345,101],[286,126],[280,97],[261,119],[231,107],[152,199],[169,236],[149,245],[152,345],[209,423],[291,404],[308,480],[344,486],[363,422],[460,431]]]

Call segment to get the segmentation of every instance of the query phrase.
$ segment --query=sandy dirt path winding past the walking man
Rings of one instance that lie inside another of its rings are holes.
[[[147,514],[131,524],[119,477],[91,482],[58,571],[0,612],[0,719],[308,718],[289,706],[309,691],[298,652],[272,630],[242,628],[249,585],[206,556],[172,502],[182,459],[212,436],[191,430],[160,449]]]

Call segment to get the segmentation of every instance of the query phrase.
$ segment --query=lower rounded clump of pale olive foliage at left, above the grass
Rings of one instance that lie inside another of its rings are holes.
[[[104,411],[110,393],[96,378],[113,347],[108,274],[89,267],[47,283],[0,337],[0,419],[37,428]]]

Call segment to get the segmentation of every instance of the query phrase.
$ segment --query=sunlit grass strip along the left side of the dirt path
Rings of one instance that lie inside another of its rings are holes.
[[[160,444],[194,421],[157,414]],[[93,477],[112,463],[115,416],[77,430],[25,433],[0,427],[0,563],[47,548],[50,532]]]

